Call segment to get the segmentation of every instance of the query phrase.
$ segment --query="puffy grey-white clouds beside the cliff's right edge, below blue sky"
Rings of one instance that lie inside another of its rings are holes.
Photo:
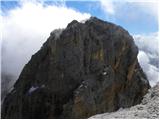
[[[158,34],[134,35],[134,40],[139,48],[138,61],[151,86],[154,86],[159,81]]]

